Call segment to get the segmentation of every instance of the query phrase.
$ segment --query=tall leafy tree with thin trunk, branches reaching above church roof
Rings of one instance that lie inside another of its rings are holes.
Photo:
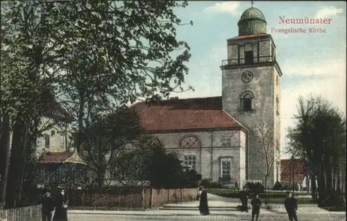
[[[67,70],[60,90],[79,131],[93,109],[184,90],[189,46],[176,39],[175,26],[182,24],[173,9],[185,6],[185,1],[96,1],[64,8],[71,21],[68,45],[60,51],[59,65]]]

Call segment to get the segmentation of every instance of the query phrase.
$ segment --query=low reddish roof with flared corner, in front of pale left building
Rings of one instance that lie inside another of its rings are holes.
[[[44,152],[39,163],[80,163],[85,164],[77,152]]]

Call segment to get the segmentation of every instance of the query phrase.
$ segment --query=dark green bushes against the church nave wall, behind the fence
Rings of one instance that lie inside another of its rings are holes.
[[[195,170],[183,170],[177,154],[167,152],[161,141],[151,136],[139,141],[137,148],[122,152],[112,165],[116,179],[126,186],[190,188],[198,186],[201,179]]]

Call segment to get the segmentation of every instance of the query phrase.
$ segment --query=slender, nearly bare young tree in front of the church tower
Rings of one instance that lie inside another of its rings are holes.
[[[259,148],[255,151],[257,160],[262,162],[257,167],[257,170],[264,177],[265,188],[265,203],[268,203],[267,199],[267,181],[269,176],[273,174],[274,164],[280,159],[280,152],[276,152],[273,148],[273,125],[266,125],[266,123],[260,123],[257,127],[257,133],[259,134]]]

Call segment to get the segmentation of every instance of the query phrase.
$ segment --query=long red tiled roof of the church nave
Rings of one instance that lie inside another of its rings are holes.
[[[242,127],[222,110],[221,97],[164,100],[133,105],[145,130]]]

